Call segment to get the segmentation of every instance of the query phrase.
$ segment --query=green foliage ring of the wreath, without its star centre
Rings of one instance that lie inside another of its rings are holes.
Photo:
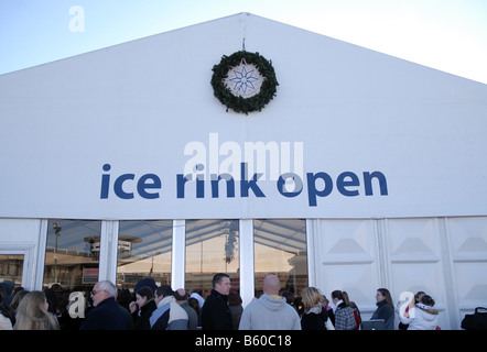
[[[247,64],[255,65],[259,69],[260,75],[264,77],[259,94],[247,99],[234,96],[230,89],[224,84],[229,69],[238,66],[242,58]],[[227,112],[228,109],[231,109],[235,112],[244,112],[248,114],[251,111],[261,111],[262,108],[275,97],[279,82],[275,78],[272,62],[268,61],[259,53],[240,51],[230,56],[224,55],[220,63],[213,66],[212,86],[215,97],[227,107]]]

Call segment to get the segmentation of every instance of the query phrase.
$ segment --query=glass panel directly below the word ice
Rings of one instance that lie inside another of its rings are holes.
[[[171,285],[172,220],[120,221],[118,240],[119,287],[133,289],[145,277]]]

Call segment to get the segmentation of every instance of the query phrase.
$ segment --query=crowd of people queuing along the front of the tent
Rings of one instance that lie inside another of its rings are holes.
[[[133,293],[101,280],[90,292],[86,311],[73,317],[68,312],[73,301],[55,304],[51,289],[28,292],[3,282],[0,330],[360,330],[366,326],[346,292],[334,290],[329,301],[318,288],[305,287],[295,298],[281,290],[278,276],[268,275],[262,295],[244,308],[227,274],[214,275],[212,284],[204,298],[202,292],[156,286],[152,278],[141,279]],[[440,329],[433,298],[419,292],[414,299],[394,307],[390,292],[379,288],[370,321],[380,321],[383,330]]]

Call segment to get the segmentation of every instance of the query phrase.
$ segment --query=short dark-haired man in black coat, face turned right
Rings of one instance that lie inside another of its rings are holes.
[[[206,298],[202,309],[203,330],[231,330],[231,314],[228,307],[230,277],[220,273],[213,277],[212,294]]]

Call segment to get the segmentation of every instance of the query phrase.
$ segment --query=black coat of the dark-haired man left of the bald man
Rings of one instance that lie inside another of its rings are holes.
[[[215,289],[206,298],[202,309],[203,330],[231,330],[231,314],[227,302],[228,296]]]

